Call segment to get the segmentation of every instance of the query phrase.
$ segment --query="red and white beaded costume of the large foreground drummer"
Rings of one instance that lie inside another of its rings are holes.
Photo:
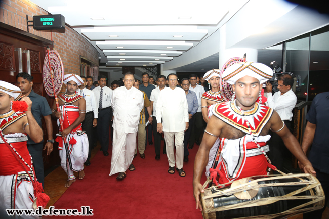
[[[265,175],[267,167],[271,166],[253,141],[253,137],[249,135],[246,121],[249,122],[252,135],[258,144],[265,152],[268,152],[266,142],[271,136],[260,136],[260,133],[270,120],[273,109],[256,102],[253,109],[244,111],[245,116],[243,116],[236,107],[235,101],[217,104],[212,109],[214,116],[246,134],[239,139],[221,139],[219,164],[216,169],[210,169],[215,179],[219,173],[219,184],[250,176]]]

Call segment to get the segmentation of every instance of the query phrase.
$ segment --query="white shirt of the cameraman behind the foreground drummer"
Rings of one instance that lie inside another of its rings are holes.
[[[292,89],[282,95],[280,91],[275,92],[273,96],[271,92],[267,93],[266,105],[275,110],[279,114],[282,121],[292,120],[292,111],[295,108],[296,103],[297,97]]]

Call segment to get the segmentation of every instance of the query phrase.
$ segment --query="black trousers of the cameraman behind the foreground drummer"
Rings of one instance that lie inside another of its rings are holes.
[[[285,120],[283,121],[286,127],[291,132],[290,121]],[[271,135],[271,139],[268,141],[268,146],[270,148],[270,152],[268,157],[270,158],[272,165],[274,165],[278,170],[283,171],[284,167],[284,154],[290,153],[289,150],[285,147],[283,140],[281,137],[276,134],[275,132],[269,131]],[[273,172],[274,174],[280,174],[276,171]]]

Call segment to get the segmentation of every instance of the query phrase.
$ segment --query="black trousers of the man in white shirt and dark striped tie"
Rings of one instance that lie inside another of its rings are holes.
[[[112,116],[111,116],[110,107],[98,110],[97,134],[98,134],[98,140],[101,143],[103,152],[108,150],[111,118],[112,118]]]

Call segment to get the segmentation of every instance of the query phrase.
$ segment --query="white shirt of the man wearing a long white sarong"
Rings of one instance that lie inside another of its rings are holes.
[[[144,107],[143,92],[135,87],[127,90],[125,86],[120,86],[113,91],[111,102],[113,128],[121,133],[136,133],[139,115]]]

